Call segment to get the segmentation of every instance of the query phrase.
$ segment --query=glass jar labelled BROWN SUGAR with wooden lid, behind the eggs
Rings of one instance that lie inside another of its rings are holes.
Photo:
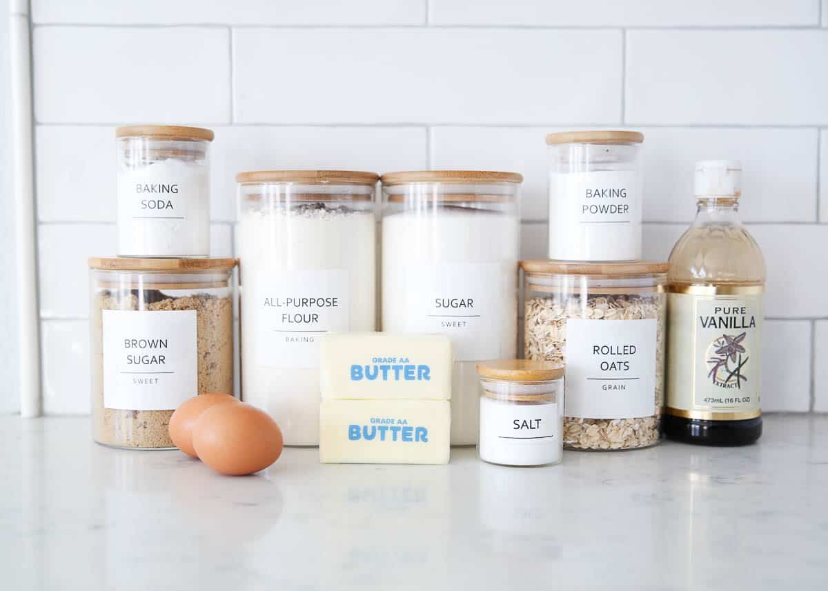
[[[233,394],[233,258],[90,258],[94,440],[175,447],[172,412]]]

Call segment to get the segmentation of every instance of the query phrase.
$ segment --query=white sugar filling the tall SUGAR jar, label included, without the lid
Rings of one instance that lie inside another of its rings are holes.
[[[516,354],[519,225],[460,207],[383,218],[383,330],[451,337],[452,444],[477,442],[476,363]]]

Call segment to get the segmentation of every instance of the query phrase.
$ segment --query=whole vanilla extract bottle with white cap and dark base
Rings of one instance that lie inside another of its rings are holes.
[[[739,220],[739,161],[696,163],[696,219],[667,272],[667,437],[707,445],[762,435],[765,262]]]

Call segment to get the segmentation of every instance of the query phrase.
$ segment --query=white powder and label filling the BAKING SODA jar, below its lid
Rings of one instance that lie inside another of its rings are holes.
[[[118,255],[209,255],[209,166],[166,158],[118,168]]]

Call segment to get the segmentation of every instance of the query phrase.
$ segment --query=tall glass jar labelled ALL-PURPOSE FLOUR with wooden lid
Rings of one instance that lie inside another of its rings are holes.
[[[238,181],[242,399],[285,444],[319,444],[320,338],[376,324],[378,175],[242,172]]]

